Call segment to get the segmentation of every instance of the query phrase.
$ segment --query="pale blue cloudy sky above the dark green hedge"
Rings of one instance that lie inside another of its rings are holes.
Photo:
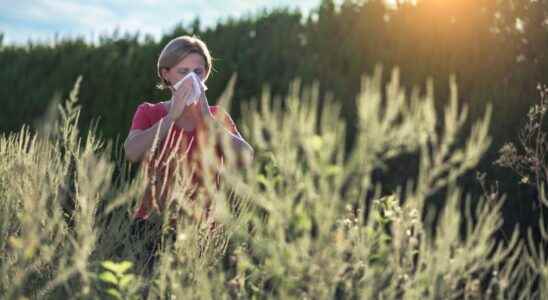
[[[100,34],[149,33],[159,37],[176,24],[200,17],[205,26],[219,19],[255,13],[264,8],[299,8],[305,14],[320,0],[0,0],[0,32],[4,44],[50,41]]]

